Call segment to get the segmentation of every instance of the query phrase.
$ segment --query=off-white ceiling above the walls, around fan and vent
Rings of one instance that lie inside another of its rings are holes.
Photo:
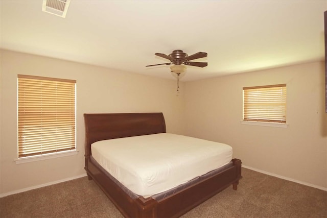
[[[169,55],[206,52],[182,81],[323,60],[321,1],[72,0],[66,18],[42,1],[4,1],[1,48],[174,79]]]

